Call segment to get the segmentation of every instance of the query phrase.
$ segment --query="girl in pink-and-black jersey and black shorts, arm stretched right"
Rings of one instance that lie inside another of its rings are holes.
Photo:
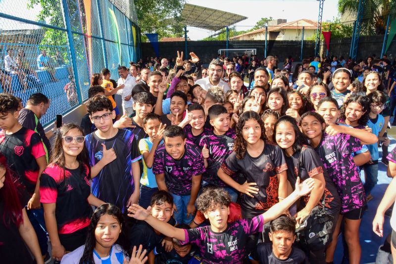
[[[362,143],[357,137],[362,130],[334,124],[326,128],[323,117],[313,112],[307,112],[301,116],[300,129],[308,137],[311,146],[322,160],[341,198],[341,212],[333,233],[333,241],[327,248],[326,262],[333,262],[338,233],[344,221],[349,263],[358,264],[361,256],[359,226],[366,200],[359,171],[351,153],[361,149]],[[378,140],[376,136],[366,139],[367,144]]]

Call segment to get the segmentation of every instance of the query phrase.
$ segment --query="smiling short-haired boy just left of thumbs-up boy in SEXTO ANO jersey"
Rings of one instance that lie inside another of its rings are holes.
[[[201,138],[211,133],[210,129],[205,128],[205,122],[206,117],[203,107],[195,103],[188,106],[186,116],[178,126],[184,128],[187,140],[198,146]]]

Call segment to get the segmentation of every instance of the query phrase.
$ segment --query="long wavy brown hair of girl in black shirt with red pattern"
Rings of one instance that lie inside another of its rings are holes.
[[[246,111],[242,113],[242,115],[239,117],[239,121],[235,129],[237,136],[235,137],[235,144],[234,144],[234,151],[237,154],[237,158],[239,160],[244,159],[246,155],[247,142],[245,141],[244,136],[242,135],[242,130],[245,126],[246,121],[250,119],[257,121],[257,123],[260,125],[261,128],[260,138],[264,141],[266,140],[264,122],[262,121],[260,116],[254,111]]]

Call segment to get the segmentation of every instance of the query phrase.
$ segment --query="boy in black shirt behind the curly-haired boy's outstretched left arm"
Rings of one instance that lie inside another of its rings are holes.
[[[169,223],[173,226],[176,222],[172,218],[173,216],[173,197],[166,191],[155,192],[150,199],[150,207],[148,207],[149,214],[156,220]],[[131,228],[129,232],[129,238],[131,241],[131,249],[139,245],[143,246],[142,250],[147,250],[149,258],[154,260],[154,254],[152,250],[156,246],[161,246],[161,241],[164,239],[164,235],[158,230],[148,225],[145,221],[137,221],[136,224]],[[150,263],[150,262],[149,262]]]

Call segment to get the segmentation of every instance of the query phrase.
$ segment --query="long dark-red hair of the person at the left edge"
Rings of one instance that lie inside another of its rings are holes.
[[[10,227],[15,225],[19,227],[23,224],[22,205],[19,200],[17,187],[23,188],[21,184],[13,176],[11,170],[7,166],[7,160],[0,153],[0,167],[5,170],[4,185],[0,188],[0,200],[4,201],[4,212],[0,216],[4,225]]]

